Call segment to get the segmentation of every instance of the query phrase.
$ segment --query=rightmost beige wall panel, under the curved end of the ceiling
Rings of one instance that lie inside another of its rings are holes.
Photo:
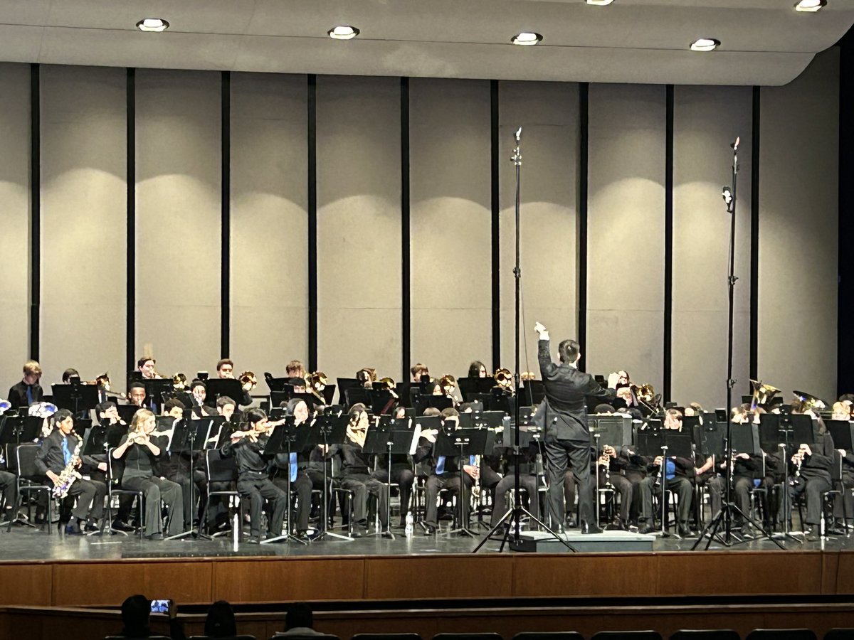
[[[839,49],[762,90],[758,375],[836,395]]]

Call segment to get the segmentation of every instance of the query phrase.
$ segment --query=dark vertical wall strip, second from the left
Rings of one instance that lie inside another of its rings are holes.
[[[137,340],[137,70],[126,76],[126,173],[127,173],[127,334],[126,371],[136,369]]]

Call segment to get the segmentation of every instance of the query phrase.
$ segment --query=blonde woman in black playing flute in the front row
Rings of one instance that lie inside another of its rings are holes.
[[[113,450],[115,460],[124,459],[125,472],[121,486],[131,491],[143,492],[145,507],[145,535],[152,540],[163,539],[161,500],[169,509],[170,536],[181,532],[184,524],[184,503],[181,486],[155,474],[157,458],[167,447],[167,438],[155,435],[155,415],[140,409],[133,415],[131,427],[121,437],[119,446]]]

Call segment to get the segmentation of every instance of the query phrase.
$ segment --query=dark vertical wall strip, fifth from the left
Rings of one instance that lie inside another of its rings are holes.
[[[409,380],[412,358],[409,257],[409,79],[401,78],[401,380]]]

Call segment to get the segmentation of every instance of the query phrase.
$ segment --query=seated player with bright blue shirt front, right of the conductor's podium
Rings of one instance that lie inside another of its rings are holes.
[[[676,409],[668,409],[664,413],[664,428],[676,429],[681,431],[682,414]],[[691,499],[693,497],[693,486],[689,477],[696,475],[693,466],[693,460],[684,457],[669,456],[664,460],[661,456],[656,456],[652,465],[647,468],[647,476],[640,482],[640,506],[641,517],[646,517],[646,527],[641,533],[652,533],[655,531],[652,526],[654,520],[652,516],[652,493],[653,491],[660,495],[661,487],[655,486],[656,479],[660,478],[661,465],[664,463],[664,481],[665,488],[668,491],[674,492],[679,500],[679,535],[683,538],[691,535],[691,530],[688,528],[688,518],[691,516]]]

